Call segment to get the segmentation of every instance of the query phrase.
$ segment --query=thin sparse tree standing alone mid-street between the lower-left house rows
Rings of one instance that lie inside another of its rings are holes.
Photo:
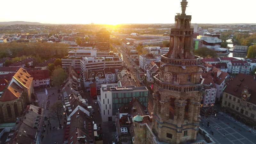
[[[52,118],[58,119],[59,121],[59,126],[61,127],[60,124],[60,115],[62,115],[62,104],[60,102],[54,103],[52,106],[50,106],[50,114]]]

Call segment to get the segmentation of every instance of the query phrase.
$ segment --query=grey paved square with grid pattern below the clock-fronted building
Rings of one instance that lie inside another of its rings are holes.
[[[256,132],[234,118],[219,112],[216,118],[201,118],[200,127],[208,132],[216,144],[255,144]],[[207,127],[207,122],[210,126]],[[203,124],[204,123],[204,124]],[[211,133],[213,132],[213,135]]]

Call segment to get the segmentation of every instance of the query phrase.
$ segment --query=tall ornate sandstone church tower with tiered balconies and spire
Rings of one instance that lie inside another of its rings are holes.
[[[170,50],[161,56],[159,73],[154,76],[152,131],[158,141],[173,144],[196,140],[200,122],[203,59],[193,53],[187,4],[182,0],[182,13],[175,16],[170,34]]]

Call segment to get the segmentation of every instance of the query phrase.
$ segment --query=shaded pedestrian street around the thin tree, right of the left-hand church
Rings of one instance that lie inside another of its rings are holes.
[[[58,93],[56,87],[47,88],[47,93],[48,93],[48,95],[50,95],[49,107],[51,107],[56,102],[61,102],[61,100],[58,100],[59,93]],[[54,95],[52,95],[52,93],[54,93]],[[36,92],[36,94],[37,94],[37,98],[39,100],[39,107],[41,107],[42,104],[44,103],[43,106],[45,108],[45,105],[47,102],[47,96],[45,94],[45,91],[43,92],[43,90],[40,90],[40,91]],[[45,116],[47,116],[47,117],[49,117],[49,115],[50,115],[50,111],[48,108],[46,108],[46,110],[44,110]],[[57,119],[53,119],[53,118],[50,118],[48,120],[50,121],[49,124],[48,124],[47,120],[44,121],[46,128],[45,128],[45,132],[42,134],[42,135],[44,135],[44,138],[41,140],[42,144],[54,144],[54,142],[59,143],[59,144],[62,143],[64,129],[60,129],[60,128],[53,129],[53,127],[59,126],[59,121]],[[63,122],[64,122],[64,116],[61,116],[60,124],[63,125]]]

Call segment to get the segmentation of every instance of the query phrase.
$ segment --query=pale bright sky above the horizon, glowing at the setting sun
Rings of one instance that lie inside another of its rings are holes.
[[[182,0],[12,0],[0,21],[52,24],[174,23]],[[256,23],[255,0],[187,0],[191,23]]]

